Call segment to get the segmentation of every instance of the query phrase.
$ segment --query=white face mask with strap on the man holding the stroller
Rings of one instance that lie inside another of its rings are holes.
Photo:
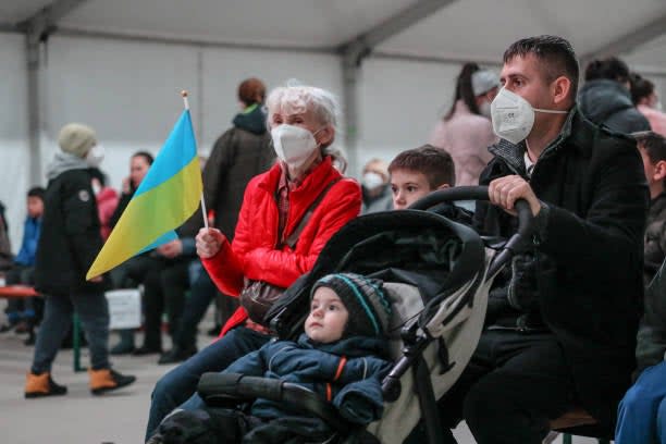
[[[527,138],[534,125],[534,111],[568,114],[568,111],[532,108],[530,102],[506,88],[499,89],[491,103],[491,120],[497,137],[518,145]]]

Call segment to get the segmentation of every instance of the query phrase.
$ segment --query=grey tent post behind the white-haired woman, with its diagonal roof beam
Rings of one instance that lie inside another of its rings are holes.
[[[418,0],[384,22],[375,25],[354,39],[341,45],[343,100],[345,116],[345,147],[350,165],[358,165],[356,141],[358,140],[358,82],[360,65],[378,46],[407,29],[409,26],[449,5],[456,0]]]

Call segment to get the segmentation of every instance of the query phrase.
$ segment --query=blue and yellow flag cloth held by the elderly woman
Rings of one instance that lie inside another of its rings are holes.
[[[201,189],[197,143],[189,110],[185,110],[97,255],[86,280],[176,239],[174,230],[197,210]]]

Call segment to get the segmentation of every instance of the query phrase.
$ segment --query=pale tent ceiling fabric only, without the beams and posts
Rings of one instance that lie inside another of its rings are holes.
[[[53,4],[55,33],[330,52],[419,3],[443,7],[375,52],[497,62],[519,37],[556,34],[581,58],[633,50],[633,62],[666,69],[666,58],[649,44],[666,29],[664,0],[4,0],[0,29]]]

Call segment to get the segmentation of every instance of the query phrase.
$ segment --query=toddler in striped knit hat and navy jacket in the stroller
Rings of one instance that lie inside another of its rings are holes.
[[[224,372],[303,385],[331,402],[347,421],[368,424],[383,411],[381,381],[391,369],[384,338],[390,317],[381,281],[354,273],[329,274],[312,286],[310,314],[297,342],[271,341]],[[187,443],[188,435],[199,440],[202,433],[210,435],[211,443],[245,443],[259,434],[263,440],[267,433],[279,441],[278,434],[283,439],[284,433],[331,432],[317,418],[262,398],[252,403],[249,415],[212,414],[205,407],[194,395],[162,421],[148,443]]]

